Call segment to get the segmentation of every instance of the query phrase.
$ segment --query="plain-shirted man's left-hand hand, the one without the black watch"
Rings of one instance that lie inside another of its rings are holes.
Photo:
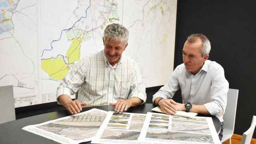
[[[172,99],[162,99],[158,102],[158,105],[160,106],[160,109],[165,112],[166,114],[175,114],[176,113],[176,102]]]

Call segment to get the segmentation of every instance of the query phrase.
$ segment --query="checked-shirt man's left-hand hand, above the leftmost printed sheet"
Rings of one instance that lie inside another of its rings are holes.
[[[77,114],[82,110],[82,107],[87,106],[84,102],[80,103],[78,100],[71,100],[66,94],[59,96],[59,102],[70,112],[70,114]]]

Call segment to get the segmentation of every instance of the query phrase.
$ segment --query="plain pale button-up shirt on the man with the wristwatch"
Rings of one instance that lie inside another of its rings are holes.
[[[211,115],[223,122],[228,86],[224,69],[217,62],[206,60],[196,75],[186,71],[184,64],[180,64],[167,83],[154,94],[153,102],[157,97],[172,98],[180,88],[183,103],[204,104]]]

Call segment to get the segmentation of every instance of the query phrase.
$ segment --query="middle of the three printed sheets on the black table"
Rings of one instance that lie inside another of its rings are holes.
[[[145,118],[146,114],[110,111],[91,143],[136,144]]]

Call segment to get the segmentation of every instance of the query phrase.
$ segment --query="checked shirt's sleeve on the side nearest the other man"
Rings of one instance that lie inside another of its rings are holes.
[[[140,98],[142,100],[141,104],[144,104],[147,100],[146,96],[146,88],[145,85],[142,83],[142,77],[140,74],[140,70],[138,65],[134,62],[134,73],[132,78],[132,84],[130,86],[130,94],[128,98]]]

